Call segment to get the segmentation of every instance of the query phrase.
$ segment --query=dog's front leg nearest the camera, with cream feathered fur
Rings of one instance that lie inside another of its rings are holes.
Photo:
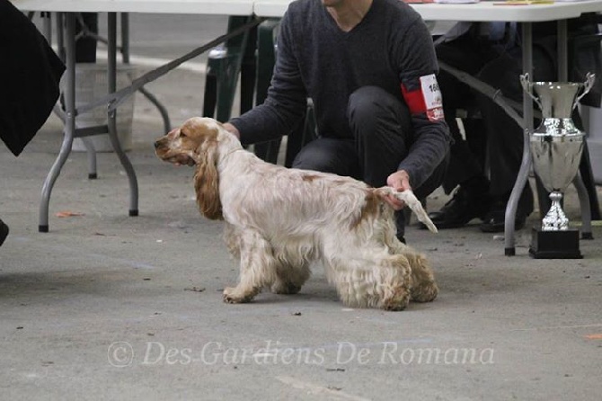
[[[276,261],[271,245],[258,232],[245,230],[239,236],[240,281],[224,289],[224,301],[250,302],[261,289],[276,280]]]

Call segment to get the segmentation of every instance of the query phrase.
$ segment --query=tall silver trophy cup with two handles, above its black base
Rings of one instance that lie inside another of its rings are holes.
[[[562,192],[577,174],[585,136],[575,127],[571,113],[581,97],[588,94],[594,79],[593,74],[588,74],[584,83],[532,83],[528,74],[520,76],[523,89],[539,105],[543,115],[542,123],[530,133],[529,147],[536,174],[552,200],[552,207],[542,220],[544,232],[569,230],[569,219],[561,205]],[[579,236],[577,238],[579,240]]]

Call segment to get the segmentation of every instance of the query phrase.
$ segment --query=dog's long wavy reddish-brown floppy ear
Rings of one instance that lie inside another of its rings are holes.
[[[219,200],[219,175],[217,174],[217,140],[208,140],[199,152],[194,190],[200,213],[212,220],[222,220],[222,202]]]

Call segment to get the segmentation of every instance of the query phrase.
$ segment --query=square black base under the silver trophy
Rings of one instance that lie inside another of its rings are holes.
[[[579,230],[543,231],[533,227],[529,254],[535,259],[581,259]]]

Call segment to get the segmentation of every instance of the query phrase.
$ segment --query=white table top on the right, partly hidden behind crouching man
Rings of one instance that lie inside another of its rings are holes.
[[[553,4],[498,5],[503,0],[475,4],[411,4],[426,21],[542,22],[579,17],[602,11],[601,0]],[[255,0],[253,11],[261,17],[281,17],[291,0]]]

